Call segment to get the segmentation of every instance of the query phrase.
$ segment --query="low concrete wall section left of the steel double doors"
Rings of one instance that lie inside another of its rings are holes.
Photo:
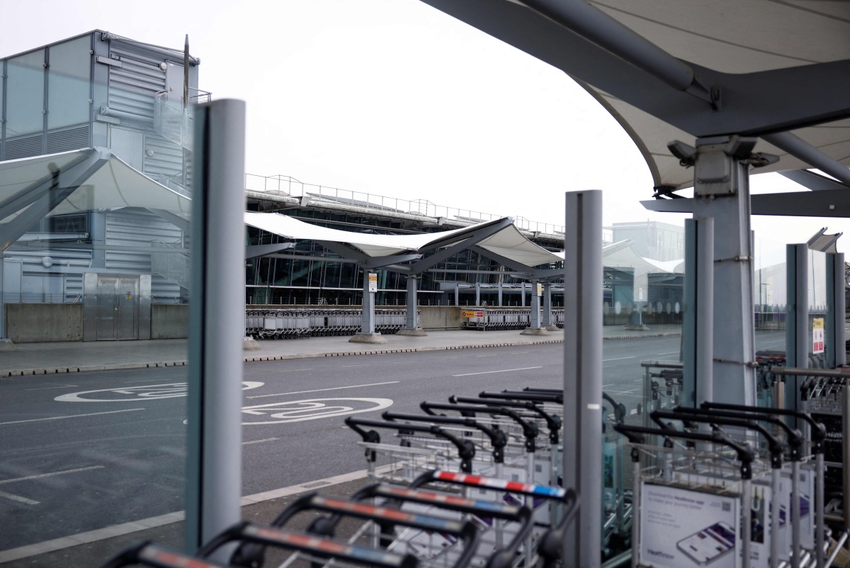
[[[17,344],[82,341],[82,304],[5,304],[6,331]]]

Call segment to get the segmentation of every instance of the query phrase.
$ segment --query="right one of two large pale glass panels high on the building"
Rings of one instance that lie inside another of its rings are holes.
[[[48,128],[88,122],[91,97],[91,37],[79,37],[50,48]]]

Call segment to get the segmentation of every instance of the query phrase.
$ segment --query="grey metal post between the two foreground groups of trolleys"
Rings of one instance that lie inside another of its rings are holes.
[[[602,549],[602,192],[566,194],[564,486],[581,508],[564,536],[564,566],[598,568]]]

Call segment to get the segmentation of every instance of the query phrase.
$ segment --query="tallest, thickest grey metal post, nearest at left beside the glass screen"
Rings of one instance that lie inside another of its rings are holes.
[[[197,108],[187,399],[186,549],[241,517],[245,103]]]

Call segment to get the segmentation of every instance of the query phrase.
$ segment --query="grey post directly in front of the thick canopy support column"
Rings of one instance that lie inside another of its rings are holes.
[[[685,220],[684,404],[713,400],[714,219]]]

